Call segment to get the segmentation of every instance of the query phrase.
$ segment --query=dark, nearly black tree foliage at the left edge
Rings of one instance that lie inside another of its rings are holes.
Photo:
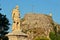
[[[5,35],[8,34],[9,25],[10,23],[6,15],[0,13],[0,38],[5,39]]]

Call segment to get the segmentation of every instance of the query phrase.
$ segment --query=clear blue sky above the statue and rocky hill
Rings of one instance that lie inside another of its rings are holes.
[[[12,9],[16,5],[19,6],[21,17],[29,12],[43,14],[51,12],[53,20],[60,24],[60,0],[0,0],[0,7],[2,8],[0,12],[7,15],[11,24]]]

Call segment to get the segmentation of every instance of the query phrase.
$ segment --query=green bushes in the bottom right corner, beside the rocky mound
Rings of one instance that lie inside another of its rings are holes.
[[[60,34],[59,34],[57,28],[58,28],[58,25],[54,24],[54,26],[53,26],[54,32],[50,32],[50,34],[49,34],[49,37],[51,40],[60,40]]]

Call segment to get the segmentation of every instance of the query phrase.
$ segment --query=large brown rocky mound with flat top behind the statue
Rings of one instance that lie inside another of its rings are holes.
[[[32,39],[36,35],[49,37],[50,31],[53,30],[53,20],[50,15],[30,13],[21,19],[21,28]]]

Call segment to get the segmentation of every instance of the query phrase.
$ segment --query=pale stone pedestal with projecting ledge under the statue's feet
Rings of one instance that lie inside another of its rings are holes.
[[[20,31],[14,31],[12,33],[7,34],[9,40],[28,40],[28,36],[25,33]]]

